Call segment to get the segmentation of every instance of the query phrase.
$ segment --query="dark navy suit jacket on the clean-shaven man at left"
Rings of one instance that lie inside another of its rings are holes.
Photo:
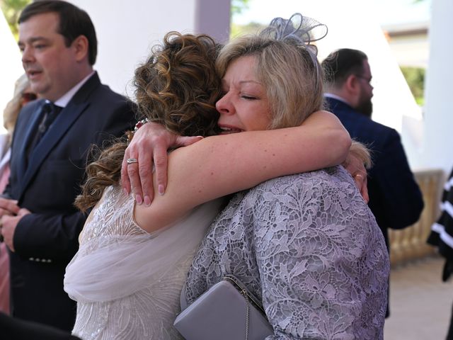
[[[43,103],[22,109],[12,142],[5,194],[32,214],[21,219],[13,238],[11,302],[16,317],[70,331],[76,305],[63,290],[63,277],[86,220],[74,198],[84,179],[87,151],[93,143],[120,137],[136,118],[132,103],[93,74],[27,157]]]

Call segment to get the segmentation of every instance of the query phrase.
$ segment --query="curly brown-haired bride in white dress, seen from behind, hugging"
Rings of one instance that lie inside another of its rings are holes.
[[[295,128],[223,129],[216,136],[215,103],[224,91],[214,67],[218,51],[207,35],[168,33],[135,72],[140,115],[173,133],[205,136],[169,154],[165,195],[146,205],[122,190],[127,142],[103,150],[88,166],[76,205],[93,209],[64,278],[77,301],[73,333],[81,339],[179,339],[173,320],[180,290],[207,227],[228,203],[222,197],[340,164],[348,154],[348,133],[330,113],[314,112],[321,108],[317,101],[304,108]]]

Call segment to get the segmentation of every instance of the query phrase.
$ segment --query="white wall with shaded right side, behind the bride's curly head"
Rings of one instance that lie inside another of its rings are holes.
[[[229,0],[72,0],[91,16],[98,35],[101,81],[132,96],[130,80],[165,33],[207,33],[224,40]]]

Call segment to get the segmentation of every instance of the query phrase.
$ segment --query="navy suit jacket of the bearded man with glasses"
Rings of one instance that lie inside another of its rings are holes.
[[[387,228],[401,229],[417,222],[423,198],[396,130],[374,122],[343,101],[326,97],[328,110],[348,130],[352,139],[372,152],[373,166],[368,172],[369,208],[382,229],[387,247]]]

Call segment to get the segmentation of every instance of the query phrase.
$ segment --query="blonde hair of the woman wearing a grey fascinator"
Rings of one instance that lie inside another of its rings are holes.
[[[300,125],[323,106],[323,77],[313,52],[295,41],[248,35],[236,38],[219,52],[216,67],[224,77],[239,57],[256,57],[256,77],[270,104],[269,129]]]

